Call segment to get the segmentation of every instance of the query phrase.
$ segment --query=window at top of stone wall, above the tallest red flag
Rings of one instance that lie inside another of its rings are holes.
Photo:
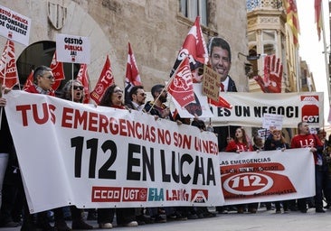
[[[180,12],[192,21],[200,16],[201,23],[207,26],[207,0],[180,0]]]

